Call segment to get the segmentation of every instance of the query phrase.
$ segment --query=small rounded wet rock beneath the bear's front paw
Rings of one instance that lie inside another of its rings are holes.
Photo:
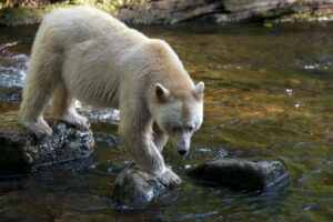
[[[112,196],[118,205],[143,209],[167,190],[157,178],[125,169],[115,179]]]

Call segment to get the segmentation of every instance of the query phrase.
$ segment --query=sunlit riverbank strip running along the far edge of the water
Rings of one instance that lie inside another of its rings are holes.
[[[333,20],[333,2],[324,0],[160,0],[84,3],[85,1],[61,2],[44,7],[3,8],[0,26],[24,26],[39,23],[54,8],[92,6],[104,10],[127,23],[181,23],[210,21],[218,23],[240,21],[297,22]]]

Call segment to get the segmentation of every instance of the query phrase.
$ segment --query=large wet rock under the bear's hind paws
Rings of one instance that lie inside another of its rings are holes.
[[[27,172],[42,165],[87,157],[93,151],[92,132],[46,120],[52,137],[37,140],[18,123],[17,112],[0,114],[0,172]]]

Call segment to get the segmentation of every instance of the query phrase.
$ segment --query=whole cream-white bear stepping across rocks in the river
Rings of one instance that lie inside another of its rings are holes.
[[[88,129],[75,99],[120,109],[119,134],[139,168],[172,186],[181,182],[161,155],[168,137],[181,155],[203,119],[204,83],[193,83],[170,46],[89,7],[56,9],[37,32],[19,117],[37,137],[54,118]]]

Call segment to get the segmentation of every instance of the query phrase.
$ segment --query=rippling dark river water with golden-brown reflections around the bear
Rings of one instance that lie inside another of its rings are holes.
[[[165,39],[206,84],[191,154],[164,158],[184,183],[147,210],[115,209],[127,157],[117,125],[93,123],[92,157],[0,181],[0,221],[333,221],[333,24],[137,27]],[[22,85],[34,27],[0,28],[0,95]],[[6,100],[0,112],[17,110]],[[192,184],[184,168],[214,158],[283,161],[286,186],[261,193]]]

